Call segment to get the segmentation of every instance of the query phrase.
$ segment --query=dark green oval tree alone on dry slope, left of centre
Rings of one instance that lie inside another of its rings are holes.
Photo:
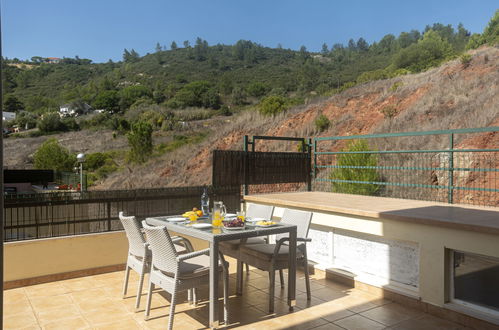
[[[138,121],[132,125],[127,134],[130,146],[129,159],[132,162],[144,163],[152,153],[152,126]]]

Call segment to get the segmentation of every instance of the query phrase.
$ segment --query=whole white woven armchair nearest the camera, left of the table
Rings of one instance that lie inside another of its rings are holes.
[[[177,293],[191,290],[199,285],[210,283],[210,249],[189,252],[179,255],[176,251],[170,234],[165,227],[149,226],[142,222],[152,250],[152,267],[149,275],[149,289],[147,292],[146,319],[151,309],[151,297],[154,286],[157,285],[171,294],[170,318],[168,329],[173,328]],[[227,300],[229,286],[228,263],[221,255],[219,271],[223,272],[224,288],[224,320],[228,324]],[[218,303],[215,302],[215,303]]]

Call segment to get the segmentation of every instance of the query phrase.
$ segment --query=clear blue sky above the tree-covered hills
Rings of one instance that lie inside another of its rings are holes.
[[[423,30],[436,22],[481,33],[497,0],[0,0],[3,55],[121,60],[196,37],[210,45],[246,39],[319,51],[324,42]]]

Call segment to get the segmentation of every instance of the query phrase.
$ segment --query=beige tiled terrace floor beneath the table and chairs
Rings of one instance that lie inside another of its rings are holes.
[[[151,318],[144,320],[145,295],[134,310],[138,277],[131,273],[129,295],[122,299],[124,272],[28,286],[5,291],[5,329],[165,329],[169,303],[155,293]],[[243,329],[466,329],[415,309],[357,289],[313,276],[312,300],[307,302],[303,277],[297,282],[297,307],[289,312],[286,290],[276,289],[276,312],[267,313],[267,273],[252,270],[243,296],[236,296],[235,275],[230,281],[230,324]],[[146,278],[147,280],[147,278]],[[147,281],[146,281],[147,282]],[[144,285],[144,293],[145,293]],[[191,306],[181,295],[175,329],[203,329],[208,325],[208,289]]]

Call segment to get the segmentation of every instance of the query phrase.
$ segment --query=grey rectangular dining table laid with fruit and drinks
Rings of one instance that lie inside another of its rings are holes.
[[[210,248],[210,296],[209,296],[209,322],[211,328],[219,326],[218,312],[218,285],[219,285],[219,245],[221,242],[235,239],[247,239],[257,236],[274,234],[289,235],[289,270],[288,270],[288,306],[292,309],[296,305],[296,232],[297,226],[285,223],[275,223],[271,226],[260,227],[247,224],[241,229],[228,229],[225,227],[211,226],[211,220],[200,218],[197,221],[169,221],[178,219],[178,216],[157,216],[146,218],[146,223],[151,226],[164,226],[168,231],[179,235],[186,235],[209,243]],[[206,224],[206,225],[199,225]],[[208,225],[210,224],[210,225]],[[205,228],[199,228],[199,227]],[[238,271],[239,270],[238,267]],[[238,278],[241,274],[238,274]]]

